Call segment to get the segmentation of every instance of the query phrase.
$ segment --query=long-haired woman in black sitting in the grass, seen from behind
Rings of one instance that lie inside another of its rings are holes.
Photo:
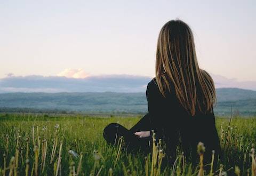
[[[112,123],[103,136],[116,143],[123,136],[127,149],[150,152],[151,130],[165,143],[165,153],[174,161],[177,148],[196,162],[197,144],[203,142],[205,159],[220,152],[213,105],[216,101],[211,76],[197,63],[193,34],[181,20],[171,20],[161,29],[156,51],[156,77],[147,86],[148,114],[131,130]]]

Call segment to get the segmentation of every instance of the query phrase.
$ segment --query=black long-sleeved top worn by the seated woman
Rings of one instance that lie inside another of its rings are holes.
[[[155,131],[157,140],[163,139],[167,154],[175,157],[179,146],[185,153],[192,152],[190,154],[198,158],[198,142],[204,143],[207,160],[210,159],[212,150],[215,150],[216,154],[220,152],[213,109],[206,114],[196,110],[195,116],[189,115],[174,90],[171,90],[166,98],[163,97],[155,78],[148,83],[146,95],[150,129]]]

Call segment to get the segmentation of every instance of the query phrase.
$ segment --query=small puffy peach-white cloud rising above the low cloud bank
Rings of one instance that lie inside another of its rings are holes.
[[[83,69],[65,69],[61,71],[57,76],[65,76],[68,78],[86,78],[89,75]]]

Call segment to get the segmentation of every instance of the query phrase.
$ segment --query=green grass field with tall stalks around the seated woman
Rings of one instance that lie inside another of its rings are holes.
[[[175,166],[162,166],[164,151],[155,147],[147,158],[127,154],[103,140],[102,130],[117,122],[127,128],[139,117],[84,117],[51,115],[0,115],[0,174],[2,175],[255,175],[253,143],[255,118],[217,118],[222,156],[218,169],[205,173],[177,155]],[[74,150],[78,156],[69,154]],[[199,155],[198,155],[199,157]],[[203,157],[203,152],[201,154]],[[217,159],[217,158],[214,158]],[[201,166],[201,167],[200,167]]]

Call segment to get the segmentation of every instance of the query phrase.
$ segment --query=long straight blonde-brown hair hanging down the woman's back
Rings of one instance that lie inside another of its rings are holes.
[[[192,31],[181,20],[167,22],[159,33],[156,82],[164,97],[174,90],[180,104],[192,116],[196,109],[204,113],[212,110],[216,102],[213,80],[199,68]]]

